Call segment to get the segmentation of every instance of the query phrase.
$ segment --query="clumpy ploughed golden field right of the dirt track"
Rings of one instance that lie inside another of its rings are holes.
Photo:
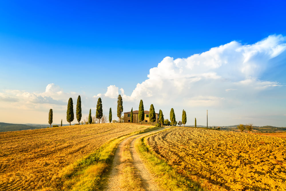
[[[286,139],[174,128],[147,143],[183,176],[213,184],[210,190],[286,190]]]

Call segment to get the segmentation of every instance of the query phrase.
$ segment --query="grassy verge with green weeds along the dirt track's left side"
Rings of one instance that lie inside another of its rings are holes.
[[[48,190],[102,190],[108,180],[108,171],[111,168],[114,153],[118,144],[125,138],[132,135],[146,133],[159,129],[158,127],[149,127],[142,131],[136,131],[127,135],[119,136],[106,142],[98,150],[86,155],[74,164],[66,166],[59,175],[54,176],[50,183],[41,191]],[[87,163],[93,157],[99,157],[99,160],[92,164]],[[88,165],[86,165],[88,164]]]

